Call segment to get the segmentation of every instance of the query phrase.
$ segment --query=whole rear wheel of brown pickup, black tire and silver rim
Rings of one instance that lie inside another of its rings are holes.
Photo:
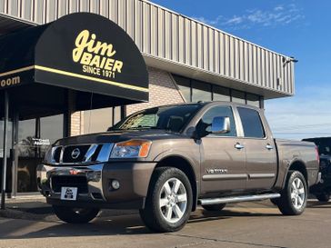
[[[281,213],[285,215],[299,215],[304,213],[307,199],[306,179],[298,171],[287,174],[286,186],[276,203]]]

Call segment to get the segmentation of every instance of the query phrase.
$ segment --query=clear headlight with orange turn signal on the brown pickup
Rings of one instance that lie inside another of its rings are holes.
[[[152,142],[147,140],[129,140],[115,144],[111,158],[146,157]]]

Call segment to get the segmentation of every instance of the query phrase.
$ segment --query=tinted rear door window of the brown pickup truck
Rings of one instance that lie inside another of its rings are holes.
[[[245,137],[264,138],[266,136],[260,114],[254,109],[238,107],[241,123],[244,128]]]

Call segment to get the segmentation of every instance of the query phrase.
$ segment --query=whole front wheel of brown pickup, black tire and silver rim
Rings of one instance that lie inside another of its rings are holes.
[[[186,174],[176,168],[160,167],[152,175],[145,208],[139,213],[150,230],[176,232],[186,225],[192,204],[192,187]]]

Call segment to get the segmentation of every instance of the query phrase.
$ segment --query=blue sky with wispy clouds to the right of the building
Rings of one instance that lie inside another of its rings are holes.
[[[276,138],[331,136],[331,1],[153,0],[229,34],[294,56],[295,96],[267,100]]]

